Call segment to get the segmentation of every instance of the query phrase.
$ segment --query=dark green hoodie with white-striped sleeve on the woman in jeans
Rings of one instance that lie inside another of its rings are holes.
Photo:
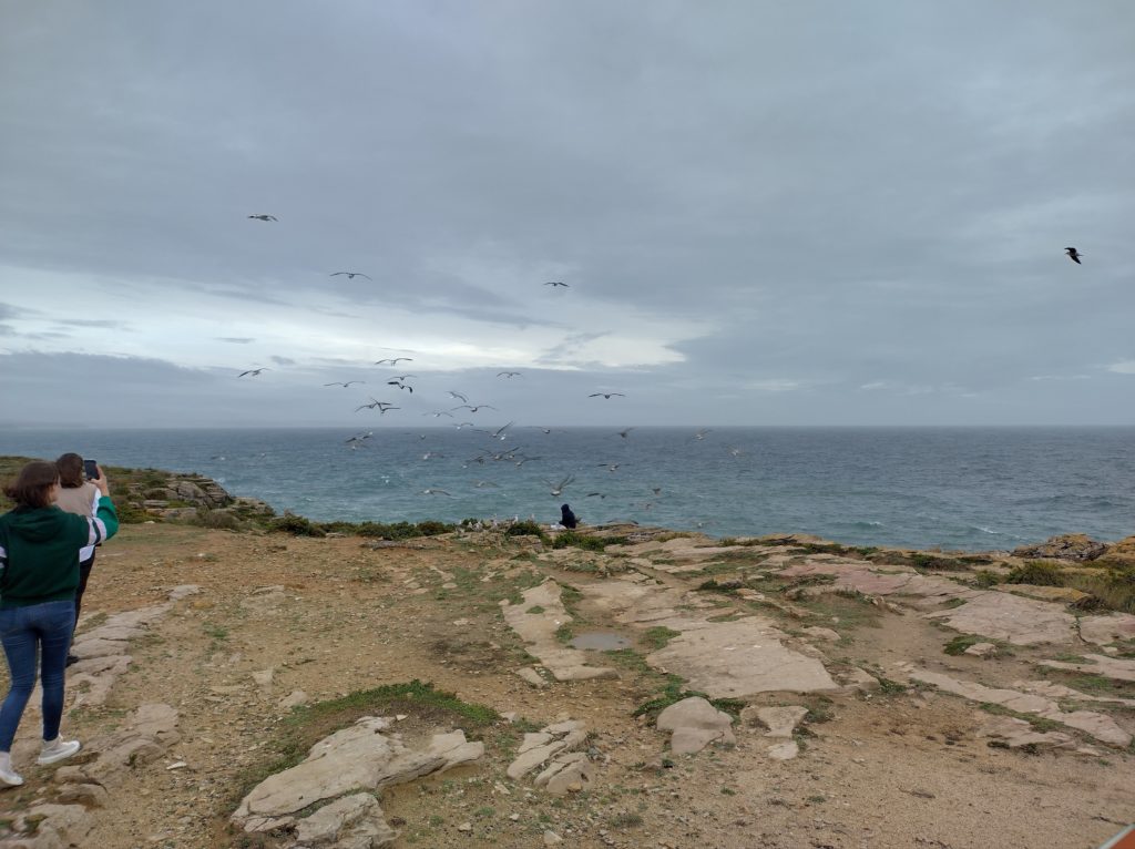
[[[0,610],[75,598],[78,550],[118,532],[110,498],[93,516],[59,507],[16,507],[0,515]]]

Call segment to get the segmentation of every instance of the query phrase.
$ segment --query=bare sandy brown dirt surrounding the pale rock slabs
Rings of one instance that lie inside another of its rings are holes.
[[[489,564],[497,577],[482,581]],[[179,714],[180,741],[92,809],[83,846],[272,846],[233,831],[228,816],[249,776],[275,757],[289,715],[281,699],[302,690],[314,704],[413,679],[514,712],[524,728],[586,721],[596,780],[586,792],[548,796],[505,776],[521,737],[515,725],[470,731],[486,742],[482,760],[382,792],[401,832],[396,847],[539,847],[550,831],[565,847],[1090,849],[1135,819],[1130,750],[1086,757],[993,748],[976,733],[982,711],[933,689],[763,694],[757,704],[813,708],[796,759],[770,759],[764,729],[751,725],[735,729],[735,746],[670,757],[666,735],[632,715],[657,695],[651,676],[629,667],[617,680],[535,688],[514,673],[524,646],[498,600],[547,575],[566,586],[581,579],[538,562],[531,544],[503,538],[376,549],[353,537],[124,527],[100,549],[79,631],[106,614],[165,602],[178,585],[201,591],[134,640],[133,663],[104,705],[65,718],[65,733],[87,740],[111,733],[142,703]],[[270,586],[283,594],[259,603],[258,590]],[[595,615],[579,611],[589,628],[619,630]],[[910,661],[990,683],[1034,674],[1028,652],[997,662],[945,655],[952,632],[918,616],[876,607],[838,619],[843,639],[825,652],[865,669]],[[270,682],[258,683],[253,674],[268,670]],[[1135,730],[1135,712],[1113,715]],[[407,737],[447,730],[436,715],[404,722]],[[33,740],[36,725],[25,716],[20,739]],[[168,768],[176,763],[186,766]],[[5,791],[0,808],[50,801],[54,767],[17,766],[27,783]]]

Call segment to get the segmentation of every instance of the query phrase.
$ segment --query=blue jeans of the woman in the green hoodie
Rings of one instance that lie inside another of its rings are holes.
[[[75,630],[75,602],[44,602],[0,610],[0,641],[8,657],[11,689],[0,706],[0,751],[11,751],[16,728],[35,687],[35,659],[42,658],[43,739],[59,737],[64,714],[64,670]]]

